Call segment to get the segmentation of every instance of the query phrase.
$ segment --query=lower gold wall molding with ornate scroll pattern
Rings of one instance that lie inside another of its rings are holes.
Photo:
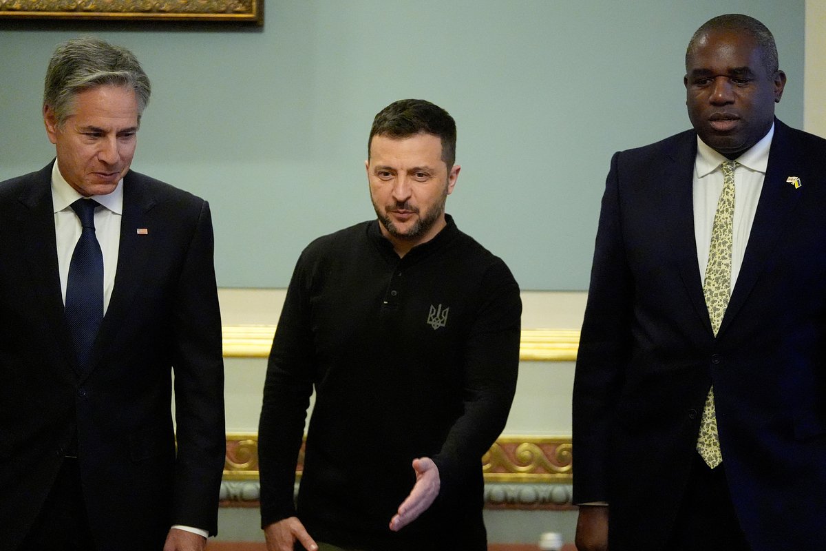
[[[304,447],[298,457],[297,476],[304,466]],[[482,457],[485,482],[533,484],[570,483],[572,451],[570,436],[501,436]],[[257,480],[258,435],[226,435],[224,480]]]

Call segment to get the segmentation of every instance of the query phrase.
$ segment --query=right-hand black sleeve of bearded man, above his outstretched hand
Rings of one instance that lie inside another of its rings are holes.
[[[519,372],[519,286],[501,260],[487,269],[481,307],[463,350],[463,415],[458,417],[439,454],[442,499],[479,477],[480,461],[502,429],[510,411]]]

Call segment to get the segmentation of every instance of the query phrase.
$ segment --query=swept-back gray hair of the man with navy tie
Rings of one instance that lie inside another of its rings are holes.
[[[98,86],[124,86],[135,90],[138,121],[150,101],[150,79],[138,59],[122,46],[93,36],[58,45],[46,69],[43,106],[55,112],[58,126],[72,115],[78,93]]]

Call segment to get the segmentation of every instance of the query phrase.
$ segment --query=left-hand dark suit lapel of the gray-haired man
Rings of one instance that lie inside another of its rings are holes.
[[[40,311],[51,326],[59,348],[75,371],[78,371],[69,330],[64,316],[63,294],[55,239],[55,212],[51,197],[51,171],[54,161],[36,173],[31,186],[19,197],[24,207],[18,219],[23,249],[31,283],[40,301]]]

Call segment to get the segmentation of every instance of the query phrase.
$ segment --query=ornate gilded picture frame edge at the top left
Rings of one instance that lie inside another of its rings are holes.
[[[263,25],[263,0],[0,0],[0,20],[224,21]]]

